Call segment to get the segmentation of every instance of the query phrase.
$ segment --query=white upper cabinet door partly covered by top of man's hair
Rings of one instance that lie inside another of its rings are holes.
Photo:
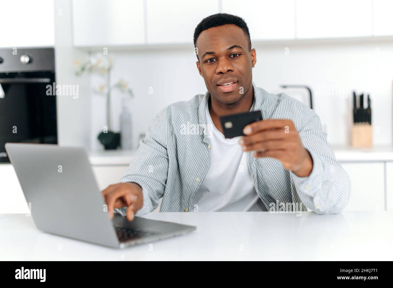
[[[218,0],[146,0],[148,44],[193,44],[194,30],[205,17],[218,13]]]

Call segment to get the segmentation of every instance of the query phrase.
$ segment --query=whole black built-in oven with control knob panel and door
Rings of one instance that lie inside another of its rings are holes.
[[[53,48],[0,49],[0,162],[6,142],[57,144],[53,85]]]

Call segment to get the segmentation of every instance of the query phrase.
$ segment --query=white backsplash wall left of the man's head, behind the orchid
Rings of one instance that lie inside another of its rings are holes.
[[[205,93],[203,78],[196,69],[193,48],[174,51],[153,50],[146,52],[114,53],[111,78],[113,83],[123,78],[129,82],[135,97],[128,98],[127,104],[132,115],[132,143],[138,147],[141,133],[145,133],[149,122],[165,106],[182,100],[189,100],[196,94]],[[110,49],[109,49],[110,53]],[[97,84],[97,76],[92,77]],[[149,94],[149,87],[153,94]],[[105,99],[92,93],[92,149],[101,149],[97,134],[105,125]],[[112,128],[118,131],[121,99],[124,94],[112,92]]]

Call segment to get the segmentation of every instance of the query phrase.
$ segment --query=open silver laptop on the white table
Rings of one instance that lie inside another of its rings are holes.
[[[182,235],[195,226],[126,217],[112,220],[83,148],[6,143],[20,186],[41,231],[113,248]]]

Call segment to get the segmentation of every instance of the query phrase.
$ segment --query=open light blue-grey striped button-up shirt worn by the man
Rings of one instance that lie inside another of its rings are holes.
[[[253,111],[263,119],[291,119],[313,160],[309,176],[298,177],[277,159],[255,158],[248,153],[248,169],[255,191],[270,211],[338,213],[349,201],[351,181],[336,160],[316,112],[285,93],[272,94],[256,87]],[[189,101],[163,108],[149,123],[145,138],[119,182],[136,182],[143,188],[143,207],[136,216],[154,211],[190,211],[198,187],[210,167],[210,139],[205,109],[209,91]],[[228,155],[231,157],[231,155]],[[116,209],[125,215],[126,208]]]

